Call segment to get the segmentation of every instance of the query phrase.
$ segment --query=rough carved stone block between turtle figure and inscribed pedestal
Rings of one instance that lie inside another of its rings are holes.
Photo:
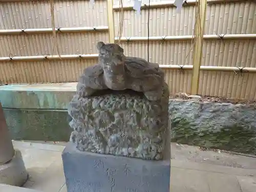
[[[78,150],[159,160],[163,157],[168,119],[168,87],[160,100],[132,90],[75,95],[69,114],[71,141]]]

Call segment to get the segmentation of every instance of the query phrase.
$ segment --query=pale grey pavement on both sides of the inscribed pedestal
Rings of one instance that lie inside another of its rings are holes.
[[[24,187],[42,192],[67,191],[61,160],[65,143],[13,141],[13,144],[22,152],[30,175]],[[172,144],[170,191],[255,192],[255,165],[254,157],[202,152],[195,146]]]

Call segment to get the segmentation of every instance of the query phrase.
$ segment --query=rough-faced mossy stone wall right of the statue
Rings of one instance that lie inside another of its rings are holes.
[[[253,105],[170,100],[172,141],[256,154]]]

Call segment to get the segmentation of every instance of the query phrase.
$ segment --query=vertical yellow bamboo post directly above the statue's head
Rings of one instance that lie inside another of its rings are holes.
[[[108,0],[108,23],[109,23],[109,42],[114,44],[115,42],[115,25],[113,14],[113,0]]]

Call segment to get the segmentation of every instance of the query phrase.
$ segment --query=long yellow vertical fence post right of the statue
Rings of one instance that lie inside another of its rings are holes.
[[[191,84],[191,94],[196,95],[198,93],[199,86],[199,72],[202,60],[202,50],[203,50],[203,34],[204,34],[204,23],[205,23],[205,13],[207,0],[198,0],[200,16],[196,17],[195,25],[195,36],[196,42],[193,51],[193,76]],[[197,13],[196,13],[197,14]]]

